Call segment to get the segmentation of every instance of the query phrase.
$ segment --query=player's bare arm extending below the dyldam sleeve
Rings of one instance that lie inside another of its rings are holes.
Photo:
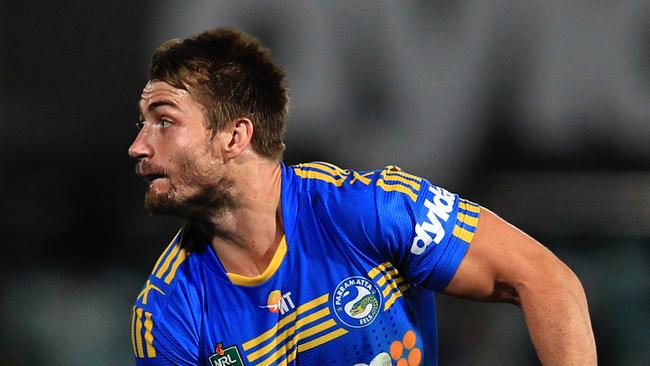
[[[481,209],[476,235],[444,293],[521,306],[544,365],[596,365],[580,280],[548,249],[487,209]]]

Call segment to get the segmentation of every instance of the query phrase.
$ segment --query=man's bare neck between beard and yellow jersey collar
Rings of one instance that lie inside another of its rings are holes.
[[[234,168],[236,208],[200,222],[226,272],[257,276],[268,267],[284,229],[282,167],[254,159]]]

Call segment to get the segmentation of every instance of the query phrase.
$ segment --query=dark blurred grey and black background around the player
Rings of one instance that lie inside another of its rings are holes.
[[[650,358],[650,2],[0,4],[0,365],[132,363],[180,220],[127,148],[152,51],[232,25],[288,73],[286,161],[398,164],[583,280],[602,365]],[[442,365],[536,364],[518,309],[440,298]]]

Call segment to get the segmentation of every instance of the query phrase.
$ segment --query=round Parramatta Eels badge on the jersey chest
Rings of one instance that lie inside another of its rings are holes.
[[[332,308],[343,324],[352,328],[370,325],[379,314],[381,294],[365,277],[348,277],[341,281],[332,296]]]

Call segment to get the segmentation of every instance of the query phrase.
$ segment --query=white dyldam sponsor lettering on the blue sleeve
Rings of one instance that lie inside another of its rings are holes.
[[[440,244],[445,237],[445,228],[440,220],[447,222],[456,200],[444,188],[429,187],[429,192],[433,193],[433,201],[424,200],[424,207],[429,210],[427,219],[421,224],[415,224],[415,238],[411,244],[411,253],[415,255],[422,254],[431,243]]]

